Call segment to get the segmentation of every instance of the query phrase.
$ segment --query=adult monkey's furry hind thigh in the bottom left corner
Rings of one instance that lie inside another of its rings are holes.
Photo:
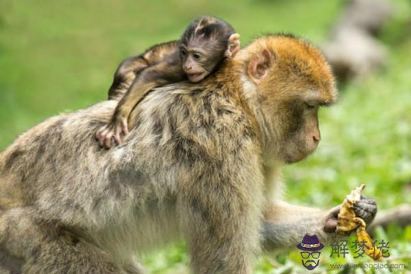
[[[110,255],[49,223],[34,221],[31,210],[14,208],[0,216],[0,273],[134,273]]]

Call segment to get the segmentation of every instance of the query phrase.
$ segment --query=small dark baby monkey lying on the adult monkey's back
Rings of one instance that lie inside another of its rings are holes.
[[[125,88],[127,92],[110,123],[97,132],[99,144],[110,149],[113,137],[121,144],[120,135],[129,133],[129,114],[153,88],[185,79],[199,82],[239,50],[240,35],[233,27],[219,18],[205,16],[190,23],[180,40],[155,45],[142,55],[124,60],[114,75],[109,97],[116,97]]]

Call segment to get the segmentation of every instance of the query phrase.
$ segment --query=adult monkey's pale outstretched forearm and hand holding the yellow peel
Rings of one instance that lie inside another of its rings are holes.
[[[373,199],[362,196],[354,208],[356,215],[371,223],[377,212]],[[319,210],[294,206],[286,202],[273,203],[266,211],[262,227],[264,249],[295,247],[304,235],[316,235],[325,244],[340,237],[335,234],[340,206],[332,210]]]

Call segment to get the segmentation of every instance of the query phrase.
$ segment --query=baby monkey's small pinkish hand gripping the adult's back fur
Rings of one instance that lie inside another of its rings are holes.
[[[96,138],[99,140],[99,145],[101,147],[110,149],[112,138],[114,138],[118,145],[121,145],[120,134],[129,134],[127,117],[124,118],[122,116],[114,115],[110,123],[101,127],[101,129],[97,131]]]

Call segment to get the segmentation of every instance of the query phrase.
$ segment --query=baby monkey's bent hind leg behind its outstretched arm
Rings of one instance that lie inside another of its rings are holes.
[[[148,66],[149,64],[142,55],[133,56],[121,62],[114,73],[113,83],[108,90],[108,99],[123,97],[134,79]]]

